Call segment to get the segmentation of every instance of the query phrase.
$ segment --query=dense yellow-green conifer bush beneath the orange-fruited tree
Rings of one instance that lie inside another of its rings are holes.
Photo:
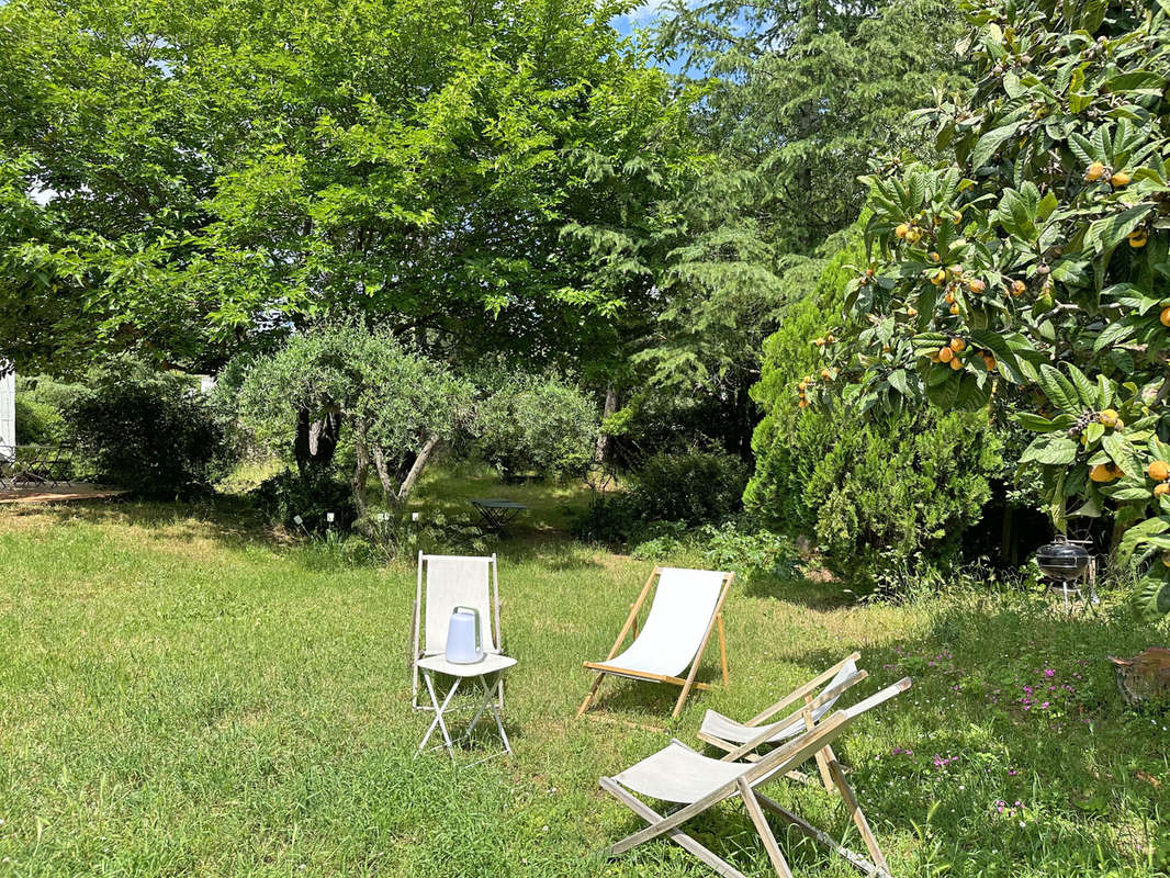
[[[801,378],[824,383],[815,341],[840,325],[847,266],[862,259],[855,240],[842,247],[768,341],[745,503],[770,527],[810,537],[834,571],[888,583],[957,560],[1004,474],[1004,440],[986,412],[867,418],[839,395],[824,410],[799,405]]]

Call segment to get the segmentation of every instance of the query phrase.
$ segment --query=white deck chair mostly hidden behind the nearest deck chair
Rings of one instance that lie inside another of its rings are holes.
[[[708,711],[703,716],[703,725],[698,729],[698,739],[727,750],[727,755],[722,757],[724,762],[758,759],[756,749],[765,745],[782,743],[811,729],[833,709],[847,688],[866,679],[868,673],[858,670],[859,658],[861,658],[860,652],[846,656],[746,722],[736,722],[717,711]],[[824,688],[813,694],[819,686]],[[760,725],[780,711],[797,704],[800,706],[784,719],[766,726]],[[826,754],[820,750],[817,752],[817,767],[820,769],[820,778],[825,789],[832,791],[833,778],[828,770],[828,760]],[[799,781],[808,780],[799,771],[790,771],[789,777]]]

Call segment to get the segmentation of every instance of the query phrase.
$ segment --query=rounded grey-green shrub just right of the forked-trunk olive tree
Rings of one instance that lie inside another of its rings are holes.
[[[472,424],[480,455],[507,478],[583,473],[593,459],[598,407],[555,375],[501,369],[477,377],[486,391]]]

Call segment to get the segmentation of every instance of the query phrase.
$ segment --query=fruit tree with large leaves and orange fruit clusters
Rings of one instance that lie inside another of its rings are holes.
[[[1021,461],[1041,467],[1055,526],[1113,515],[1117,561],[1152,560],[1138,606],[1164,611],[1170,11],[969,11],[978,87],[921,117],[950,160],[867,179],[873,260],[830,368],[861,411],[1014,413],[1039,433]]]

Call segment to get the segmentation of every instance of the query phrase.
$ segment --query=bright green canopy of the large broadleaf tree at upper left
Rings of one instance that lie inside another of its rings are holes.
[[[687,101],[593,0],[0,6],[0,337],[213,370],[349,316],[615,363],[660,307]],[[373,26],[373,22],[377,22]]]

